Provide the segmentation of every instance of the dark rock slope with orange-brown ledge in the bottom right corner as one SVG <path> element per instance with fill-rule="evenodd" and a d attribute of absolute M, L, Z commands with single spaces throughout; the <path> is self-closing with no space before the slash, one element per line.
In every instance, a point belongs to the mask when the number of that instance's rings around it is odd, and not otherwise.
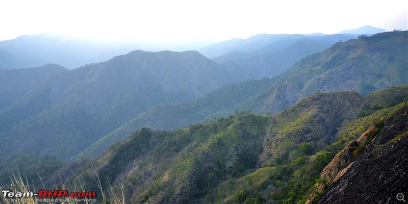
<path fill-rule="evenodd" d="M 378 120 L 367 138 L 360 140 L 363 144 L 350 149 L 352 165 L 314 203 L 397 202 L 395 195 L 408 187 L 407 178 L 401 176 L 406 172 L 401 161 L 408 159 L 408 103 L 401 105 Z"/>

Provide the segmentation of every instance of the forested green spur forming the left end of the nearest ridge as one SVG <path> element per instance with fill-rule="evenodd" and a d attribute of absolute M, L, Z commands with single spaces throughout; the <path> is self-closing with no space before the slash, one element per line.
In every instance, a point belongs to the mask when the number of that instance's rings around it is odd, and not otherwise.
<path fill-rule="evenodd" d="M 134 201 L 191 202 L 233 171 L 238 176 L 253 168 L 268 120 L 243 114 L 174 131 L 141 129 L 96 162 L 98 173 L 109 182 L 125 176 Z"/>

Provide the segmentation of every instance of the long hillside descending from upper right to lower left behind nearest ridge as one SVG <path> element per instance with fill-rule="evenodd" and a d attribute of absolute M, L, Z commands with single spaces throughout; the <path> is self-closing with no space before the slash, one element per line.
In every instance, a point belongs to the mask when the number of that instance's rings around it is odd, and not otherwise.
<path fill-rule="evenodd" d="M 106 135 L 82 156 L 100 155 L 110 144 L 144 126 L 174 129 L 240 110 L 273 114 L 317 92 L 355 90 L 367 95 L 407 84 L 407 52 L 406 31 L 337 43 L 272 79 L 227 85 L 187 103 L 155 107 Z"/>

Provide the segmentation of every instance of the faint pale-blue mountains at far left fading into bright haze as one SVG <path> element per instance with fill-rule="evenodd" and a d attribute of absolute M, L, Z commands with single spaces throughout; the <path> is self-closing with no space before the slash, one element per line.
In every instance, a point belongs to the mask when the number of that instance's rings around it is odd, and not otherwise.
<path fill-rule="evenodd" d="M 132 50 L 192 50 L 208 42 L 157 43 L 132 40 L 102 40 L 41 33 L 0 41 L 0 69 L 59 64 L 68 69 L 107 61 Z"/>

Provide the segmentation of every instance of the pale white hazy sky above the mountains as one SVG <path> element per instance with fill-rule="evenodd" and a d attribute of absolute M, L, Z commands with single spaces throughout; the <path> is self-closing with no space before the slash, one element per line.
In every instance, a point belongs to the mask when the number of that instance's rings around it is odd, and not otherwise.
<path fill-rule="evenodd" d="M 254 34 L 332 34 L 369 24 L 408 27 L 407 1 L 88 1 L 0 2 L 0 40 L 35 33 L 184 41 Z M 379 3 L 380 2 L 380 3 Z"/>

